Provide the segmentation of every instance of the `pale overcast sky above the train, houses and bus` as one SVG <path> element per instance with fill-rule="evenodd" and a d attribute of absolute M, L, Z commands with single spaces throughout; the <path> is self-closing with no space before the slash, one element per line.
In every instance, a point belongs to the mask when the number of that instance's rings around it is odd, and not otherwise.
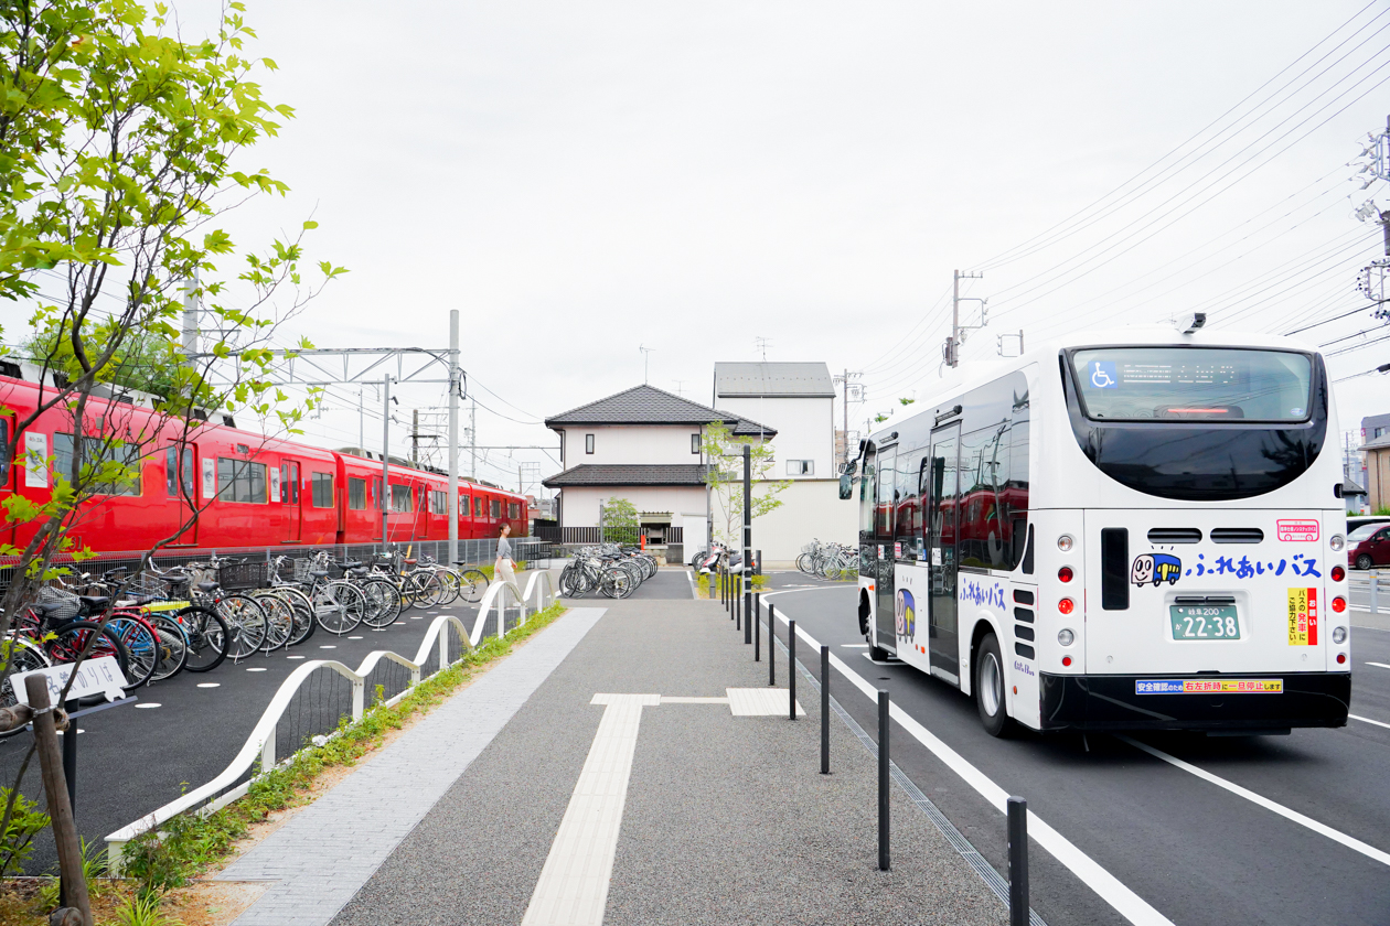
<path fill-rule="evenodd" d="M 214 4 L 175 6 L 186 35 L 210 28 Z M 1351 211 L 1384 183 L 1362 193 L 1344 165 L 1390 112 L 1384 0 L 247 7 L 249 50 L 279 64 L 265 93 L 297 118 L 243 162 L 293 193 L 235 236 L 313 212 L 314 255 L 352 272 L 303 333 L 442 347 L 457 308 L 480 401 L 520 422 L 641 383 L 639 346 L 652 385 L 708 403 L 713 362 L 758 358 L 762 336 L 770 361 L 865 371 L 862 426 L 930 392 L 954 268 L 984 267 L 967 292 L 991 300 L 969 362 L 1020 328 L 1194 307 L 1290 330 L 1364 307 L 1357 269 L 1380 251 Z M 990 260 L 1097 200 L 1115 208 Z M 1387 360 L 1390 342 L 1329 364 Z M 1390 380 L 1346 386 L 1344 428 L 1390 411 Z M 442 401 L 417 387 L 402 408 Z M 481 408 L 478 430 L 553 441 Z M 357 412 L 309 432 L 356 443 Z M 514 486 L 517 460 L 559 469 L 491 451 L 480 475 Z"/>

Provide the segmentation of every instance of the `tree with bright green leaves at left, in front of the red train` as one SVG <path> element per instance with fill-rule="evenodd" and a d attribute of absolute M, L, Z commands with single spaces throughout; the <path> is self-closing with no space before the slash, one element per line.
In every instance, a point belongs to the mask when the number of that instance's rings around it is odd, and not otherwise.
<path fill-rule="evenodd" d="M 50 469 L 47 501 L 4 503 L 8 526 L 29 539 L 0 546 L 22 566 L 0 601 L 0 636 L 7 615 L 65 571 L 56 557 L 88 555 L 67 540 L 79 512 L 138 478 L 150 455 L 211 426 L 199 421 L 206 411 L 279 433 L 304 412 L 270 379 L 271 337 L 343 271 L 320 262 L 306 282 L 311 221 L 260 249 L 238 247 L 220 228 L 228 210 L 288 189 L 240 167 L 246 149 L 293 115 L 263 99 L 253 78 L 275 65 L 245 51 L 254 32 L 242 12 L 228 3 L 217 35 L 185 42 L 164 4 L 0 0 L 0 297 L 32 308 L 29 347 L 44 383 L 35 412 L 0 412 L 11 447 L 49 412 L 65 415 L 74 435 L 64 458 L 24 461 Z M 217 329 L 188 355 L 185 280 L 202 280 L 192 294 Z M 163 394 L 153 422 L 117 401 L 133 387 Z M 188 518 L 154 550 L 197 518 L 186 501 Z"/>

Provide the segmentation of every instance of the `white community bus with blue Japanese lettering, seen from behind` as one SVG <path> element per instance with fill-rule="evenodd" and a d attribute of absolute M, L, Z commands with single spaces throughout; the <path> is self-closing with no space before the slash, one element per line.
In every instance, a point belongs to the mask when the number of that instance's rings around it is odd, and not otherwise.
<path fill-rule="evenodd" d="M 873 657 L 973 694 L 995 736 L 1346 725 L 1346 508 L 1316 351 L 1130 328 L 915 407 L 841 480 Z"/>

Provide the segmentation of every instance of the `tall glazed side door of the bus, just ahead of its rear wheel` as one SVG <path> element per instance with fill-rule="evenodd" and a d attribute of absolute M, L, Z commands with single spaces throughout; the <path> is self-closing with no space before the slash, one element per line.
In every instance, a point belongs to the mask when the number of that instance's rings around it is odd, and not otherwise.
<path fill-rule="evenodd" d="M 927 532 L 927 565 L 931 576 L 931 668 L 960 675 L 960 641 L 956 630 L 956 472 L 960 425 L 931 433 L 930 496 L 923 503 Z"/>

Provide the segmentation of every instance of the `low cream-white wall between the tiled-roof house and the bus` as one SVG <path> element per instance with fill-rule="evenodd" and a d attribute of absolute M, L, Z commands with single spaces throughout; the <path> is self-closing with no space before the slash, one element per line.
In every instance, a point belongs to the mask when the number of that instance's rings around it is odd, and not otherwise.
<path fill-rule="evenodd" d="M 756 485 L 753 494 L 758 496 Z M 849 546 L 859 543 L 859 505 L 841 501 L 838 479 L 799 479 L 777 497 L 783 503 L 780 507 L 753 518 L 753 548 L 763 551 L 764 566 L 794 566 L 801 548 L 813 537 Z M 723 505 L 716 500 L 716 536 L 723 532 L 724 523 Z M 741 543 L 739 525 L 734 528 L 735 546 Z"/>

